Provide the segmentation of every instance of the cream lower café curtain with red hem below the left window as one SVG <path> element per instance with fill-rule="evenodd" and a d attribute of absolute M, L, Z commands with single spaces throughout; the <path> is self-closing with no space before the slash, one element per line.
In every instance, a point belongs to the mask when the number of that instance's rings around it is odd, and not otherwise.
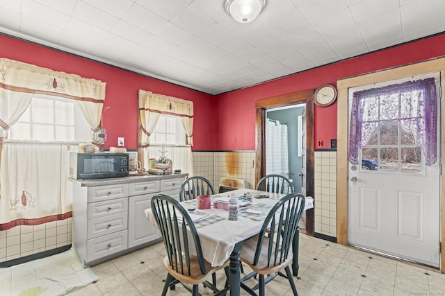
<path fill-rule="evenodd" d="M 70 151 L 77 146 L 34 141 L 3 143 L 0 224 L 72 211 L 72 183 L 67 182 L 67 177 Z"/>

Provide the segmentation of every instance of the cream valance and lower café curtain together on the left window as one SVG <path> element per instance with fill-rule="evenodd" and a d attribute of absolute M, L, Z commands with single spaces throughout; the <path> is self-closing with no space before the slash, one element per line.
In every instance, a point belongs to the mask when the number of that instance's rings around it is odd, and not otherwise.
<path fill-rule="evenodd" d="M 70 144 L 6 140 L 34 94 L 76 100 L 91 128 L 96 128 L 105 83 L 0 58 L 0 230 L 71 216 Z"/>

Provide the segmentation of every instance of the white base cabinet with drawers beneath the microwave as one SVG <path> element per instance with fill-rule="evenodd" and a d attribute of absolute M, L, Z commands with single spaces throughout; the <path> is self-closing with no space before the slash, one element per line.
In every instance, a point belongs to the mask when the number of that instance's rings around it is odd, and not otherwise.
<path fill-rule="evenodd" d="M 179 200 L 185 176 L 73 181 L 73 241 L 81 261 L 95 265 L 161 238 L 144 211 L 159 193 Z"/>

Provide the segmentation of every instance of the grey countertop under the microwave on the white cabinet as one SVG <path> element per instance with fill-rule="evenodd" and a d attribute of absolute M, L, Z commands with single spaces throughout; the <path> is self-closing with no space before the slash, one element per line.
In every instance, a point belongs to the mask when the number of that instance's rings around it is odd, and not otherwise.
<path fill-rule="evenodd" d="M 184 178 L 188 176 L 188 173 L 181 174 L 171 174 L 171 175 L 138 175 L 129 177 L 114 177 L 107 179 L 95 179 L 95 180 L 76 180 L 73 178 L 68 178 L 71 182 L 82 187 L 93 187 L 93 186 L 104 186 L 104 185 L 114 185 L 114 184 L 124 184 L 124 183 L 136 183 L 136 182 L 147 182 L 153 180 L 165 180 L 165 179 L 176 179 Z"/>

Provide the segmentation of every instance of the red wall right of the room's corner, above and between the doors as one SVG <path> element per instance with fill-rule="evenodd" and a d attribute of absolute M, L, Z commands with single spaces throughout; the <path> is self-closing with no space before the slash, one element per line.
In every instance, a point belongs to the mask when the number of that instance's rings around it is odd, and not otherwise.
<path fill-rule="evenodd" d="M 255 149 L 255 101 L 262 98 L 316 89 L 337 80 L 404 64 L 412 64 L 445 55 L 445 35 L 403 44 L 384 51 L 336 62 L 324 67 L 296 73 L 261 85 L 216 96 L 216 137 L 218 150 Z M 347 114 L 339 114 L 347 116 Z M 337 139 L 337 103 L 314 107 L 314 147 L 330 148 Z M 318 146 L 318 141 L 323 146 Z"/>

